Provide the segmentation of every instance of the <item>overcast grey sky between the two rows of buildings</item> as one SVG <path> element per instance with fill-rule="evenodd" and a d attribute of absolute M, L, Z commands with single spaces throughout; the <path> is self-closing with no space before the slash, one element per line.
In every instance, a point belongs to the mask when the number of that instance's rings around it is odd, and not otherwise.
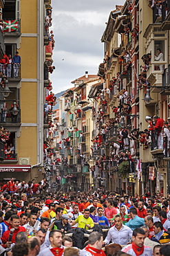
<path fill-rule="evenodd" d="M 125 0 L 52 0 L 52 30 L 55 71 L 53 92 L 72 87 L 71 81 L 88 71 L 96 75 L 103 62 L 104 44 L 100 39 L 111 10 Z"/>

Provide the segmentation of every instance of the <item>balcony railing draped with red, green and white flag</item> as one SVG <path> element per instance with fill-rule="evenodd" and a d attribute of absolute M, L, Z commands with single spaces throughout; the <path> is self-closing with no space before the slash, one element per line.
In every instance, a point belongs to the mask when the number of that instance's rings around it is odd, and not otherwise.
<path fill-rule="evenodd" d="M 21 35 L 21 20 L 20 19 L 5 19 L 3 23 L 6 24 L 6 28 L 3 30 L 4 35 Z"/>

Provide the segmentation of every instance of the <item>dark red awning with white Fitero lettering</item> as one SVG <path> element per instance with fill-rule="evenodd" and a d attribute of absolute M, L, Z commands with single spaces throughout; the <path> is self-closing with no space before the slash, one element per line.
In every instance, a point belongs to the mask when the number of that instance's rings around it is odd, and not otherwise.
<path fill-rule="evenodd" d="M 0 172 L 30 172 L 31 165 L 0 165 Z"/>

